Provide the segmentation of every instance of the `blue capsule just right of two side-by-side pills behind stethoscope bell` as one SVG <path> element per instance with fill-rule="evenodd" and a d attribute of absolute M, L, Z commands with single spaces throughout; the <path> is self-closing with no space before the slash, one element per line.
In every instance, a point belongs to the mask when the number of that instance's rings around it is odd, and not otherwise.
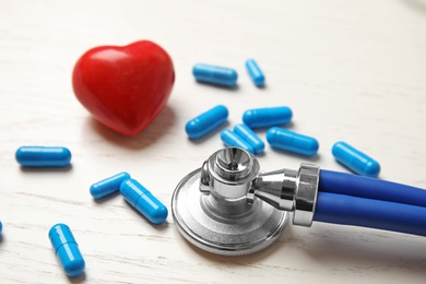
<path fill-rule="evenodd" d="M 313 156 L 319 149 L 319 143 L 315 138 L 279 127 L 273 127 L 267 131 L 267 140 L 272 147 L 305 156 Z"/>

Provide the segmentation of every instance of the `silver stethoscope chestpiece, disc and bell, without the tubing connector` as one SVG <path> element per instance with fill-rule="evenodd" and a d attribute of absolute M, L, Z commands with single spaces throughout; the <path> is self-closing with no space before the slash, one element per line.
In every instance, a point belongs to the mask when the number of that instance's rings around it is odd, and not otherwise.
<path fill-rule="evenodd" d="M 259 163 L 248 152 L 227 147 L 187 175 L 171 199 L 180 234 L 192 245 L 217 255 L 240 256 L 273 244 L 288 212 L 250 197 Z"/>

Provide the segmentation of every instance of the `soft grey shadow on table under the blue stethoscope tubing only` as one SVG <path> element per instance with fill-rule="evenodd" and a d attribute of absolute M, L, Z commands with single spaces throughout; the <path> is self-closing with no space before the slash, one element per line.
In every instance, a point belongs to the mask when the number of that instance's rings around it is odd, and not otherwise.
<path fill-rule="evenodd" d="M 409 269 L 425 273 L 425 238 L 369 228 L 334 229 L 321 225 L 310 230 L 305 245 L 308 256 L 329 267 L 375 268 L 376 270 Z M 338 225 L 339 226 L 339 225 Z M 330 228 L 328 228 L 330 227 Z"/>

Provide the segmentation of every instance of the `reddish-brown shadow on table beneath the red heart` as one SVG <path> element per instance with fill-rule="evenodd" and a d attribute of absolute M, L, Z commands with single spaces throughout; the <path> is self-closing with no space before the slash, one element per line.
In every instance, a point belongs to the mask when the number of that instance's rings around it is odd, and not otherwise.
<path fill-rule="evenodd" d="M 164 133 L 175 126 L 176 120 L 175 111 L 166 105 L 151 125 L 135 137 L 127 137 L 118 133 L 107 128 L 92 116 L 87 119 L 88 129 L 85 129 L 84 131 L 95 131 L 98 135 L 113 144 L 140 150 L 157 142 Z"/>

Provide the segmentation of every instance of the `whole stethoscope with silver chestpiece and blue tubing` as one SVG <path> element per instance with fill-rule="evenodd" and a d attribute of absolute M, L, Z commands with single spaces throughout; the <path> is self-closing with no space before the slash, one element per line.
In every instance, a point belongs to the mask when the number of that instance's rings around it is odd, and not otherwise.
<path fill-rule="evenodd" d="M 426 190 L 324 170 L 260 171 L 258 159 L 238 147 L 215 152 L 187 175 L 171 199 L 180 234 L 218 255 L 239 256 L 273 244 L 286 226 L 313 221 L 426 236 Z"/>

